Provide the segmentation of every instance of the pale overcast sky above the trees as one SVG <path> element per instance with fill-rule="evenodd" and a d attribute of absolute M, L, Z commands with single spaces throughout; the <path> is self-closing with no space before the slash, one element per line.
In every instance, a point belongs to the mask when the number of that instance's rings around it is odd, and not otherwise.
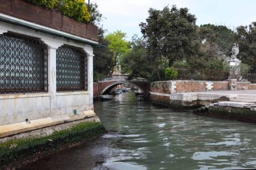
<path fill-rule="evenodd" d="M 86 0 L 87 1 L 87 0 Z M 256 22 L 256 0 L 91 0 L 97 3 L 104 17 L 102 22 L 108 33 L 121 30 L 127 40 L 134 34 L 141 36 L 139 23 L 146 22 L 148 9 L 163 9 L 166 5 L 187 7 L 197 17 L 197 25 L 224 25 L 235 30 Z"/>

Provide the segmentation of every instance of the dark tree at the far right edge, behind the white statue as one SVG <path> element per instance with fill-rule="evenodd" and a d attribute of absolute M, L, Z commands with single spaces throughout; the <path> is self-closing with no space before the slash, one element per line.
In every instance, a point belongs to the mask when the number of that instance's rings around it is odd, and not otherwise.
<path fill-rule="evenodd" d="M 237 30 L 237 42 L 241 60 L 243 63 L 250 65 L 253 72 L 256 72 L 256 22 L 249 26 L 239 26 Z"/>

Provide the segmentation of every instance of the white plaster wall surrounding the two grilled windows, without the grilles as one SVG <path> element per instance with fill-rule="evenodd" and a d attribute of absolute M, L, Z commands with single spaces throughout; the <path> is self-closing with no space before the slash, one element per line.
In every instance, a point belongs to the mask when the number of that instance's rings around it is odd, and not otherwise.
<path fill-rule="evenodd" d="M 0 95 L 0 126 L 53 116 L 68 116 L 93 110 L 93 48 L 84 42 L 38 32 L 7 22 L 0 22 L 0 34 L 15 32 L 40 38 L 48 46 L 48 93 Z M 88 91 L 56 91 L 56 50 L 63 44 L 84 49 L 88 58 Z"/>

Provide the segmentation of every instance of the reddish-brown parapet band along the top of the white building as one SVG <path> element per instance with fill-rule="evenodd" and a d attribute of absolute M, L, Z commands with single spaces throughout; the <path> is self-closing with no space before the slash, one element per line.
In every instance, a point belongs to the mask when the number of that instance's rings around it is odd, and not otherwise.
<path fill-rule="evenodd" d="M 96 26 L 77 22 L 61 15 L 59 11 L 45 9 L 24 0 L 1 0 L 0 12 L 98 42 Z"/>

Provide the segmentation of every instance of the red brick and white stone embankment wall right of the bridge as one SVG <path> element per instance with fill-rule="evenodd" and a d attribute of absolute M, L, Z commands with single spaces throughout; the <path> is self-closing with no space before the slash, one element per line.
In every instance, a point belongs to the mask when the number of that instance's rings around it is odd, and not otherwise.
<path fill-rule="evenodd" d="M 221 101 L 221 94 L 205 96 L 200 91 L 226 91 L 256 89 L 256 84 L 236 81 L 156 81 L 151 83 L 150 96 L 153 103 L 183 110 L 211 101 Z M 190 93 L 188 93 L 190 92 Z M 232 95 L 227 96 L 232 97 Z"/>

